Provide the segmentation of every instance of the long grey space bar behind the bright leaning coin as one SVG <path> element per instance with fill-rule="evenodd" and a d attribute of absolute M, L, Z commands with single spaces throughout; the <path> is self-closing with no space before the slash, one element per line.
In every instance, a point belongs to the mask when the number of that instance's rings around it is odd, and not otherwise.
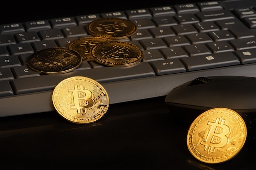
<path fill-rule="evenodd" d="M 17 78 L 11 83 L 15 94 L 25 94 L 53 90 L 59 82 L 72 76 L 85 76 L 99 83 L 107 83 L 155 76 L 155 72 L 149 63 L 137 63 L 130 67 L 103 67 L 88 70 L 74 70 L 64 74 Z"/>

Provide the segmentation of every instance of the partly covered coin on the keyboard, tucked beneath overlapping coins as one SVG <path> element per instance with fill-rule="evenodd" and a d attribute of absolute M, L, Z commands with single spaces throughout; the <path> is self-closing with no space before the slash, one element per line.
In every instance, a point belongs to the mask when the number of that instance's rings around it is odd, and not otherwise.
<path fill-rule="evenodd" d="M 68 44 L 67 48 L 78 52 L 84 61 L 92 61 L 93 59 L 90 54 L 90 49 L 93 46 L 105 41 L 112 40 L 103 37 L 82 37 L 72 41 L 70 44 Z"/>

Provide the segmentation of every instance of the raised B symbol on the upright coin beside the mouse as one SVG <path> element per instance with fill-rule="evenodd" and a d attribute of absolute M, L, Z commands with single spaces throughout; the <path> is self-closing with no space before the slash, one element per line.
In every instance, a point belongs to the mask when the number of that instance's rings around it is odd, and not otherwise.
<path fill-rule="evenodd" d="M 220 118 L 217 118 L 215 122 L 208 122 L 211 129 L 206 140 L 201 142 L 202 145 L 205 145 L 205 151 L 214 152 L 215 148 L 222 148 L 228 143 L 229 126 L 225 122 L 225 119 Z"/>

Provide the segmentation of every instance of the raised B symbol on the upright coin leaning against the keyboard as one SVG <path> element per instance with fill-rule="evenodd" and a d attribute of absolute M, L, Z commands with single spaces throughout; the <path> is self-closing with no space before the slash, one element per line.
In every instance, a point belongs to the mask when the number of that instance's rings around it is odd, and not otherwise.
<path fill-rule="evenodd" d="M 71 106 L 71 109 L 76 109 L 77 113 L 86 113 L 86 109 L 94 105 L 92 92 L 84 89 L 83 85 L 74 85 L 74 89 L 68 89 L 68 91 L 73 94 L 74 106 Z"/>

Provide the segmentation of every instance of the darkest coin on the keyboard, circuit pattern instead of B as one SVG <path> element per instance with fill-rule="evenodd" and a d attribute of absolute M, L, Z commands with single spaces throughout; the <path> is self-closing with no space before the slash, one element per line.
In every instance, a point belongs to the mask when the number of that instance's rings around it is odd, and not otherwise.
<path fill-rule="evenodd" d="M 78 68 L 81 63 L 81 55 L 74 50 L 47 48 L 31 54 L 27 65 L 42 74 L 62 74 Z"/>

